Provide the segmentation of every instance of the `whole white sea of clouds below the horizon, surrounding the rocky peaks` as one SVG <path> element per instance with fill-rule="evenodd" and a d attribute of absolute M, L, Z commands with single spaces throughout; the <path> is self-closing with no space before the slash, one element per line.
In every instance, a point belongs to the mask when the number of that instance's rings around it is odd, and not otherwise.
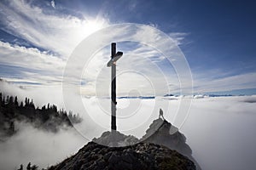
<path fill-rule="evenodd" d="M 55 90 L 51 93 L 46 88 L 40 89 L 41 92 L 45 90 L 43 96 L 35 89 L 11 88 L 3 83 L 1 85 L 1 90 L 6 94 L 16 94 L 20 99 L 29 96 L 38 106 L 50 102 L 64 107 L 61 90 L 53 89 Z M 192 99 L 192 104 L 189 116 L 179 130 L 186 136 L 193 156 L 202 169 L 255 169 L 255 95 L 118 99 L 118 129 L 121 133 L 142 137 L 149 124 L 158 118 L 159 108 L 164 108 L 166 103 L 170 104 L 170 109 L 164 109 L 164 116 L 173 124 L 173 113 L 177 112 L 183 98 Z M 47 133 L 29 124 L 17 124 L 18 133 L 0 143 L 1 169 L 15 169 L 20 167 L 21 163 L 27 164 L 29 161 L 41 168 L 54 165 L 76 153 L 93 137 L 99 137 L 102 132 L 107 131 L 110 124 L 109 99 L 90 97 L 82 100 L 84 105 L 81 108 L 73 104 L 73 112 L 79 112 L 80 116 L 84 117 L 84 121 L 75 128 L 61 130 L 59 133 Z M 72 103 L 72 99 L 70 102 Z M 83 111 L 89 116 L 84 116 Z M 94 125 L 94 129 L 86 129 Z"/>

